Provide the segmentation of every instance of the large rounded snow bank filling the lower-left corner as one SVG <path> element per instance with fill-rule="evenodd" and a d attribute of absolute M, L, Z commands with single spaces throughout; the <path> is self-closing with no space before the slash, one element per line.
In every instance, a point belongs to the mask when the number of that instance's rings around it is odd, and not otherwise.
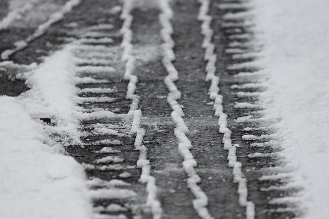
<path fill-rule="evenodd" d="M 0 218 L 89 219 L 83 168 L 46 133 L 15 98 L 0 97 Z"/>

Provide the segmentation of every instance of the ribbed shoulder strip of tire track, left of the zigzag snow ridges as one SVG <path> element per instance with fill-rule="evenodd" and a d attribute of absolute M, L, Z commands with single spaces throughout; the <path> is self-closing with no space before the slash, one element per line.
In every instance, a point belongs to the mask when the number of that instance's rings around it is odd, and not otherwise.
<path fill-rule="evenodd" d="M 95 25 L 92 31 L 99 35 L 116 31 L 108 27 Z M 81 118 L 81 146 L 68 147 L 67 151 L 86 168 L 94 218 L 132 218 L 142 214 L 143 199 L 136 197 L 145 196 L 144 186 L 136 184 L 140 175 L 136 168 L 139 153 L 134 151 L 136 136 L 131 126 L 137 124 L 134 113 L 128 114 L 128 83 L 117 72 L 124 63 L 108 59 L 108 55 L 120 55 L 120 46 L 103 41 L 94 45 L 97 39 L 100 38 L 82 38 L 74 45 L 77 74 L 82 82 L 78 85 L 80 106 L 86 112 Z"/>

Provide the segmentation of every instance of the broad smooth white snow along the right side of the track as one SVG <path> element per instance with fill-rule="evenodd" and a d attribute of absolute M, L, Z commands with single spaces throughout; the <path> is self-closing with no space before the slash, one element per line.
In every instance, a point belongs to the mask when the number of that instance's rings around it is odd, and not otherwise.
<path fill-rule="evenodd" d="M 304 189 L 298 197 L 303 217 L 329 215 L 329 1 L 253 0 L 261 61 L 268 73 L 262 95 L 267 115 L 280 118 L 278 134 L 293 173 Z"/>

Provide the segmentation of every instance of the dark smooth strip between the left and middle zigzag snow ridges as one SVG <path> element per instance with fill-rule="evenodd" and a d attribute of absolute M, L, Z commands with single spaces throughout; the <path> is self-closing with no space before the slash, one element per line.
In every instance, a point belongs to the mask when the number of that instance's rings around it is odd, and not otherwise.
<path fill-rule="evenodd" d="M 134 72 L 139 78 L 136 92 L 141 97 L 144 144 L 148 148 L 151 174 L 157 179 L 164 219 L 197 219 L 191 202 L 193 195 L 186 186 L 186 174 L 181 168 L 174 125 L 170 119 L 171 109 L 166 103 L 159 5 L 157 1 L 142 2 L 132 11 L 135 17 L 132 25 L 136 57 Z"/>

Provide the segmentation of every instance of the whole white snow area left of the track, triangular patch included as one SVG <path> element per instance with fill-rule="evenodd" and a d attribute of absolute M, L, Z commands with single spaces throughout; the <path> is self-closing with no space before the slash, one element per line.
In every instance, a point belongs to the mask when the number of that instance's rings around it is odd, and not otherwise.
<path fill-rule="evenodd" d="M 56 52 L 26 74 L 31 90 L 0 97 L 0 218 L 91 218 L 83 167 L 49 140 L 50 133 L 63 144 L 79 139 L 70 53 Z"/>

